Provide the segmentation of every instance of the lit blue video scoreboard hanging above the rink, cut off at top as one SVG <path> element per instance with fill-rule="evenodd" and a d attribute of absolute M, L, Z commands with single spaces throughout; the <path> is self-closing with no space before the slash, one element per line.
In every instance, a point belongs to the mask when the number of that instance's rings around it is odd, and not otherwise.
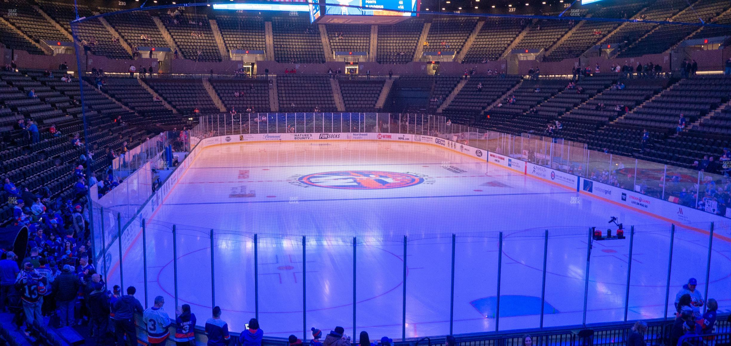
<path fill-rule="evenodd" d="M 313 22 L 390 24 L 398 23 L 401 20 L 417 15 L 416 12 L 419 10 L 420 1 L 311 0 L 309 5 L 310 19 Z"/>

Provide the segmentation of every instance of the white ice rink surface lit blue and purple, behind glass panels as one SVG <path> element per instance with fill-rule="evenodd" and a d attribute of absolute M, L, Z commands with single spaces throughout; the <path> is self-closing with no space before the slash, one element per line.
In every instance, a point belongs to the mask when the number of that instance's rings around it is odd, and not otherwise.
<path fill-rule="evenodd" d="M 265 335 L 301 337 L 303 328 L 327 333 L 335 326 L 352 335 L 354 281 L 356 332 L 401 338 L 405 285 L 406 336 L 449 334 L 455 234 L 453 332 L 493 331 L 502 231 L 499 328 L 535 328 L 549 230 L 544 324 L 580 324 L 588 230 L 606 230 L 618 217 L 628 238 L 593 242 L 586 322 L 624 319 L 629 225 L 635 242 L 628 319 L 664 315 L 670 224 L 651 215 L 427 144 L 302 141 L 202 150 L 148 221 L 149 299 L 164 296 L 171 314 L 174 223 L 179 304 L 191 304 L 201 324 L 211 313 L 215 229 L 215 301 L 233 331 L 256 309 L 257 234 Z M 138 291 L 141 242 L 137 236 L 124 257 L 125 285 Z M 701 293 L 706 289 L 707 249 L 707 234 L 676 227 L 670 313 L 689 277 Z M 730 250 L 714 239 L 708 296 L 722 310 L 731 296 Z"/>

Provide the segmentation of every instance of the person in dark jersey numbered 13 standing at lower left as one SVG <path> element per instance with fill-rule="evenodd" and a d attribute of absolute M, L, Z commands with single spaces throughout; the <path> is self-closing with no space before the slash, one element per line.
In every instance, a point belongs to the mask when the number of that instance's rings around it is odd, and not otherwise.
<path fill-rule="evenodd" d="M 26 323 L 30 327 L 33 326 L 34 321 L 37 321 L 43 326 L 41 305 L 43 304 L 43 296 L 46 293 L 48 281 L 41 274 L 38 274 L 34 269 L 33 263 L 26 262 L 23 268 L 23 273 L 20 274 L 18 281 L 15 282 L 15 289 L 20 292 L 20 298 L 23 300 L 23 312 L 26 315 Z M 29 334 L 27 329 L 26 334 Z"/>

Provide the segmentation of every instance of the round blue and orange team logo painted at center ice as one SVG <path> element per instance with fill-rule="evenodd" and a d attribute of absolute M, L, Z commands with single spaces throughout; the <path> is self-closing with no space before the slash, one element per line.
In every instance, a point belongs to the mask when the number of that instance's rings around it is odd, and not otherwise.
<path fill-rule="evenodd" d="M 408 173 L 383 170 L 336 170 L 301 176 L 298 181 L 314 187 L 330 189 L 395 189 L 412 187 L 424 182 L 424 178 Z"/>

